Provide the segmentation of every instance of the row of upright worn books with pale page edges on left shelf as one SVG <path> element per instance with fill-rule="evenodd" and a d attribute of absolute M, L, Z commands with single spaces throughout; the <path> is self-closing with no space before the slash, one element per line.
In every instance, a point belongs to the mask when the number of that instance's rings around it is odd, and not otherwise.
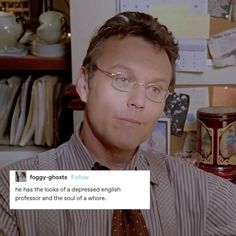
<path fill-rule="evenodd" d="M 58 145 L 62 94 L 58 76 L 1 79 L 0 144 Z"/>

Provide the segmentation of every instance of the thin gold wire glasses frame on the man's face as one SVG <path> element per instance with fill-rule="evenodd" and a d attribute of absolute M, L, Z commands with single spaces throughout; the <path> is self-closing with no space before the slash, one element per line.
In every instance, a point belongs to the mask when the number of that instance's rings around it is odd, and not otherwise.
<path fill-rule="evenodd" d="M 127 90 L 127 91 L 126 91 L 126 90 L 119 89 L 119 88 L 117 88 L 117 87 L 114 85 L 115 76 L 117 76 L 117 75 L 119 75 L 119 74 L 122 74 L 121 72 L 116 72 L 116 73 L 109 72 L 109 71 L 106 71 L 106 70 L 101 69 L 101 68 L 98 67 L 96 64 L 94 64 L 92 67 L 93 67 L 93 70 L 98 70 L 98 71 L 102 72 L 103 74 L 105 74 L 106 76 L 108 76 L 109 78 L 111 78 L 111 79 L 112 79 L 112 85 L 113 85 L 113 87 L 114 87 L 116 90 L 121 91 L 121 92 L 130 92 L 130 91 L 131 91 L 131 90 Z M 153 99 L 151 99 L 150 97 L 148 97 L 148 96 L 147 96 L 147 93 L 146 93 L 146 88 L 147 88 L 148 86 L 151 86 L 151 85 L 153 85 L 153 84 L 151 84 L 151 83 L 150 83 L 150 84 L 145 84 L 145 83 L 143 83 L 143 82 L 138 82 L 138 81 L 135 80 L 135 85 L 134 85 L 133 89 L 137 88 L 137 86 L 144 86 L 144 87 L 145 87 L 145 96 L 146 96 L 146 98 L 148 98 L 150 101 L 155 102 L 155 103 L 162 103 L 162 102 L 165 102 L 166 99 L 167 99 L 167 97 L 172 94 L 172 93 L 169 91 L 169 89 L 167 89 L 167 90 L 165 90 L 166 95 L 163 97 L 163 100 L 160 100 L 160 101 L 153 100 Z"/>

